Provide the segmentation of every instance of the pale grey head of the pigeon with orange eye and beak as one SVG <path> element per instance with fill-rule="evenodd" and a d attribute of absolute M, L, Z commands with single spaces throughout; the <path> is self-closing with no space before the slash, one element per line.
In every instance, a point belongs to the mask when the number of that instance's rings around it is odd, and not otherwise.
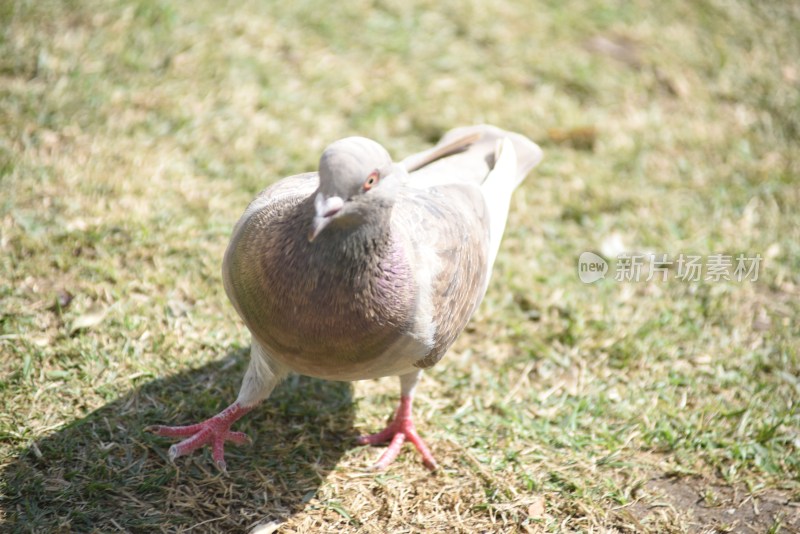
<path fill-rule="evenodd" d="M 319 189 L 308 240 L 328 226 L 369 224 L 392 204 L 392 189 L 403 167 L 381 145 L 365 137 L 346 137 L 328 146 L 319 160 Z"/>

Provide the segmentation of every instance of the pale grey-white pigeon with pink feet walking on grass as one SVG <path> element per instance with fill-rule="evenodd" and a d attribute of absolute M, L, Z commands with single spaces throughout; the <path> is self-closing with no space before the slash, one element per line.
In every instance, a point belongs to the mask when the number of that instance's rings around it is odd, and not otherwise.
<path fill-rule="evenodd" d="M 400 378 L 400 404 L 362 445 L 389 445 L 385 469 L 410 441 L 436 460 L 412 418 L 414 390 L 464 329 L 486 292 L 511 194 L 541 160 L 527 137 L 479 125 L 456 128 L 429 150 L 394 162 L 364 137 L 329 145 L 318 172 L 260 193 L 233 229 L 225 291 L 251 333 L 236 401 L 189 426 L 148 427 L 183 438 L 175 460 L 249 438 L 231 426 L 289 372 L 328 380 Z"/>

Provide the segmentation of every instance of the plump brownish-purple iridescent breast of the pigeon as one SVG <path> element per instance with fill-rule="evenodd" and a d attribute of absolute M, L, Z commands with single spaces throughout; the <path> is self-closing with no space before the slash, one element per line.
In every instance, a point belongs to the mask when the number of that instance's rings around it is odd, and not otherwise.
<path fill-rule="evenodd" d="M 312 214 L 310 197 L 286 195 L 237 228 L 226 257 L 231 300 L 270 355 L 293 370 L 381 376 L 399 364 L 376 360 L 402 345 L 414 323 L 417 291 L 404 243 L 358 229 L 309 242 Z M 388 230 L 390 216 L 364 231 Z"/>

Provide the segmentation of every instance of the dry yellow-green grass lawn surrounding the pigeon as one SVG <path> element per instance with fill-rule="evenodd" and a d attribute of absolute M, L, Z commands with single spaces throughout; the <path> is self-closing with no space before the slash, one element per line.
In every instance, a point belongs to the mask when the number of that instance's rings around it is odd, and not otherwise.
<path fill-rule="evenodd" d="M 3 530 L 800 529 L 797 6 L 283 4 L 0 4 Z M 254 194 L 346 135 L 399 158 L 477 122 L 545 160 L 419 388 L 440 472 L 363 469 L 393 378 L 290 379 L 228 477 L 170 465 L 142 429 L 243 373 L 220 264 Z M 763 263 L 585 285 L 585 250 Z"/>

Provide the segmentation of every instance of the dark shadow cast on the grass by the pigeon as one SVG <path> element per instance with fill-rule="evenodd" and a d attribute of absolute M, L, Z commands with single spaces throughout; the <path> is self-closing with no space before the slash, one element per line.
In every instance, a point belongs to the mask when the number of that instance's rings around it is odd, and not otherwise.
<path fill-rule="evenodd" d="M 186 424 L 235 398 L 246 349 L 152 380 L 32 443 L 0 471 L 12 532 L 241 532 L 281 521 L 310 501 L 353 447 L 349 383 L 291 376 L 236 429 L 228 474 L 208 451 L 171 464 L 170 440 L 144 428 Z"/>

